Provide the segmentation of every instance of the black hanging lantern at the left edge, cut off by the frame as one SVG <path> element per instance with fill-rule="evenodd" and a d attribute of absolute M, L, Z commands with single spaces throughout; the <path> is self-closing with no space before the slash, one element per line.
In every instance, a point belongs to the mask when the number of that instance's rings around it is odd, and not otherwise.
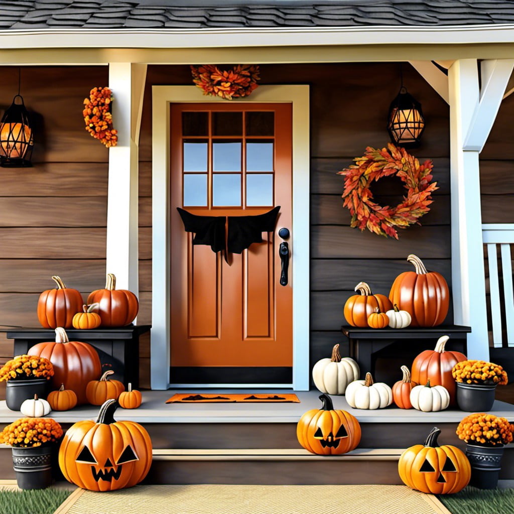
<path fill-rule="evenodd" d="M 18 94 L 0 121 L 0 166 L 23 168 L 32 166 L 34 136 L 23 97 Z"/>

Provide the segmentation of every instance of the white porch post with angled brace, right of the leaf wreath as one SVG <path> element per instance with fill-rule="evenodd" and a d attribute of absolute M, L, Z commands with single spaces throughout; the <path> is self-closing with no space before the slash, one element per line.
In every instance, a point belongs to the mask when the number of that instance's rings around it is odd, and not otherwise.
<path fill-rule="evenodd" d="M 471 326 L 470 359 L 489 359 L 479 153 L 511 71 L 511 60 L 484 61 L 481 90 L 475 59 L 455 61 L 448 70 L 453 310 L 456 324 Z"/>

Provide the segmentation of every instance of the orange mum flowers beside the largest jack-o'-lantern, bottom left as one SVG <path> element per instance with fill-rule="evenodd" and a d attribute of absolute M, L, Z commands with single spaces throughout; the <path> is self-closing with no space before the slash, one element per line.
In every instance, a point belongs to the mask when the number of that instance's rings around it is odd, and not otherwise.
<path fill-rule="evenodd" d="M 0 443 L 20 448 L 54 443 L 63 435 L 61 425 L 52 418 L 20 418 L 0 432 Z"/>

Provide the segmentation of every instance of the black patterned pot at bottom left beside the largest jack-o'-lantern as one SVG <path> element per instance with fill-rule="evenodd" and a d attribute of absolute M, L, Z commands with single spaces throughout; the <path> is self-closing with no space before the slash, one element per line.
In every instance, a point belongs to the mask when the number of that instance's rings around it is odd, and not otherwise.
<path fill-rule="evenodd" d="M 52 485 L 52 448 L 12 448 L 12 462 L 20 489 L 45 489 Z"/>

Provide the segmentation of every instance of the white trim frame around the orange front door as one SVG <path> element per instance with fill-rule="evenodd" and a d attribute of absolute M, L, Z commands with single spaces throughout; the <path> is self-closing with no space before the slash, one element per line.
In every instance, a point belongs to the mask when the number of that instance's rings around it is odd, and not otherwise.
<path fill-rule="evenodd" d="M 196 86 L 152 87 L 152 389 L 168 389 L 170 370 L 170 103 L 292 104 L 293 380 L 309 389 L 309 86 L 260 86 L 244 100 L 205 97 Z M 241 387 L 246 387 L 246 384 Z M 263 384 L 262 387 L 266 387 Z M 282 384 L 284 387 L 284 384 Z"/>

